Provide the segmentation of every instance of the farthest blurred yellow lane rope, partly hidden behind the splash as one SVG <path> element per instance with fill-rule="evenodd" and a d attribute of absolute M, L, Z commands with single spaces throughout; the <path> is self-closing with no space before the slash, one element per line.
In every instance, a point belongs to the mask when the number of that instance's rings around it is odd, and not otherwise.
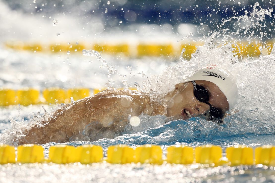
<path fill-rule="evenodd" d="M 236 41 L 232 44 L 232 52 L 238 56 L 238 58 L 246 57 L 259 57 L 260 54 L 268 55 L 273 48 L 274 41 L 267 41 L 265 44 L 260 41 Z M 83 43 L 55 43 L 49 45 L 43 45 L 40 43 L 23 43 L 17 42 L 6 42 L 7 48 L 15 50 L 25 50 L 31 52 L 45 52 L 45 53 L 63 53 L 67 52 L 70 54 L 81 54 L 83 49 L 93 49 L 98 52 L 103 52 L 112 55 L 125 55 L 130 57 L 143 57 L 143 56 L 179 56 L 182 49 L 185 48 L 183 58 L 190 59 L 198 46 L 202 46 L 203 42 L 190 42 L 190 43 L 179 43 L 177 45 L 171 43 L 139 43 L 136 45 L 130 45 L 126 43 L 111 44 L 111 43 L 100 43 L 94 45 L 86 45 Z"/>

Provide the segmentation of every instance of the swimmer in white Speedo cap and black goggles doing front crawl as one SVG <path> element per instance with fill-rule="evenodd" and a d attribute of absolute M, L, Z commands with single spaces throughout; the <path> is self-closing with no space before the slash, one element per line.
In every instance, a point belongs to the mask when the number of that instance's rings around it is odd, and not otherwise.
<path fill-rule="evenodd" d="M 150 98 L 139 91 L 105 90 L 66 104 L 42 124 L 29 124 L 23 137 L 15 143 L 77 140 L 72 137 L 90 141 L 114 138 L 124 131 L 130 117 L 142 113 L 184 120 L 201 117 L 220 123 L 226 111 L 235 105 L 237 95 L 233 76 L 217 66 L 208 66 L 176 84 L 175 89 L 164 96 Z"/>

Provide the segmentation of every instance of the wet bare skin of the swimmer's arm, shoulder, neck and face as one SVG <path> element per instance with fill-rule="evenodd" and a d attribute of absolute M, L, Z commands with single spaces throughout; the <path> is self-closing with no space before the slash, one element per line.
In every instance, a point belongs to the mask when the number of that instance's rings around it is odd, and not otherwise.
<path fill-rule="evenodd" d="M 229 109 L 226 97 L 218 86 L 202 80 L 196 83 L 208 90 L 208 102 L 211 105 L 221 109 L 223 113 Z M 42 121 L 43 125 L 30 124 L 23 132 L 24 137 L 15 139 L 14 143 L 63 143 L 81 139 L 94 141 L 114 138 L 115 134 L 124 131 L 129 116 L 139 116 L 141 113 L 174 116 L 174 119 L 196 116 L 207 119 L 210 107 L 199 102 L 193 90 L 191 82 L 178 83 L 173 91 L 155 100 L 138 91 L 102 91 L 56 110 L 51 117 Z M 84 129 L 86 131 L 83 135 Z"/>

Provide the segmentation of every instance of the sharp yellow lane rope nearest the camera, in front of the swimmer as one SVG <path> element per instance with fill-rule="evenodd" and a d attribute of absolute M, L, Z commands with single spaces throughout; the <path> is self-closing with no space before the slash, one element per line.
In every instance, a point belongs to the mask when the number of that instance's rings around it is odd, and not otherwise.
<path fill-rule="evenodd" d="M 7 163 L 56 163 L 67 164 L 80 162 L 91 164 L 107 162 L 111 164 L 201 164 L 210 166 L 257 165 L 275 166 L 275 146 L 265 145 L 252 147 L 235 145 L 226 148 L 226 156 L 222 156 L 222 148 L 215 145 L 204 145 L 196 148 L 176 145 L 163 150 L 157 145 L 142 145 L 132 148 L 127 145 L 110 146 L 107 157 L 103 156 L 103 148 L 97 145 L 55 145 L 49 149 L 49 157 L 45 158 L 44 149 L 40 145 L 28 144 L 17 148 L 0 145 L 0 164 Z M 17 157 L 17 159 L 16 159 Z M 208 167 L 208 166 L 207 166 Z"/>

